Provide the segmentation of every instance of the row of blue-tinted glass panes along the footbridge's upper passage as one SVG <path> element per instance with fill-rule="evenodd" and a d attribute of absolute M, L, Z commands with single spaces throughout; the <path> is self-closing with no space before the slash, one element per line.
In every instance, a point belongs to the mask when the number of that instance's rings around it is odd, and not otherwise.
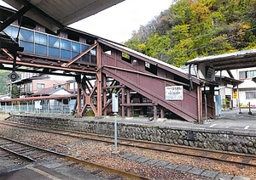
<path fill-rule="evenodd" d="M 15 25 L 9 25 L 4 31 L 10 37 L 16 38 L 19 28 Z M 73 59 L 79 53 L 84 52 L 90 47 L 88 44 L 71 41 L 65 38 L 52 36 L 39 31 L 32 31 L 26 28 L 20 29 L 19 34 L 20 47 L 24 48 L 25 53 L 37 54 L 60 59 Z M 90 50 L 78 61 L 86 64 L 96 65 L 96 48 Z"/>

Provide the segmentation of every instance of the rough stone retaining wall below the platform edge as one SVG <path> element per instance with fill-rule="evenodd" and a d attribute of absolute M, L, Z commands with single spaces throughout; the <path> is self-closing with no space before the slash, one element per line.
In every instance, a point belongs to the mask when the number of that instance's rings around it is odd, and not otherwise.
<path fill-rule="evenodd" d="M 41 127 L 113 136 L 113 122 L 96 121 L 95 119 L 84 121 L 83 119 L 70 120 L 31 115 L 12 115 L 6 120 Z M 256 155 L 256 132 L 118 123 L 118 137 Z"/>

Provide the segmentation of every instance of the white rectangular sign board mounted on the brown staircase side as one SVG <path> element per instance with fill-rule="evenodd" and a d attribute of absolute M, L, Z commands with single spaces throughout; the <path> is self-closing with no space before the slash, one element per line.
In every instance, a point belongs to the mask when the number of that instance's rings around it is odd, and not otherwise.
<path fill-rule="evenodd" d="M 183 100 L 183 86 L 166 87 L 166 100 Z"/>

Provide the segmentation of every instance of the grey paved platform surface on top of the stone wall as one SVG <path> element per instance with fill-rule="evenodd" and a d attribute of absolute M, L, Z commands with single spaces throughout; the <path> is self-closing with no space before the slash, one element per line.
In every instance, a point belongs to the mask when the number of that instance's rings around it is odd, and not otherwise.
<path fill-rule="evenodd" d="M 241 113 L 240 113 L 241 112 Z M 203 124 L 192 123 L 189 121 L 169 120 L 160 118 L 157 121 L 150 121 L 148 118 L 120 118 L 117 117 L 119 123 L 140 124 L 160 127 L 188 127 L 188 128 L 207 128 L 221 129 L 243 132 L 254 132 L 256 130 L 256 109 L 251 110 L 249 115 L 248 109 L 233 109 L 222 111 L 221 115 L 216 119 L 205 120 Z M 84 117 L 86 119 L 86 117 Z M 99 121 L 102 121 L 99 120 Z M 103 121 L 113 121 L 113 117 L 105 117 Z"/>

